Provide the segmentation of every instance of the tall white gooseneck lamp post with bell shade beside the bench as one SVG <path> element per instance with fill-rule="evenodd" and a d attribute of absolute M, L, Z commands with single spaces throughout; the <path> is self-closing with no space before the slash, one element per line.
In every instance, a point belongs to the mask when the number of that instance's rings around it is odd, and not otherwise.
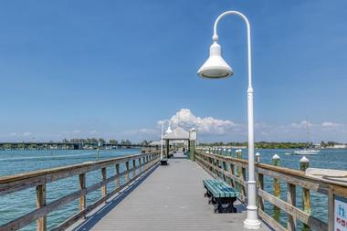
<path fill-rule="evenodd" d="M 214 43 L 210 47 L 210 56 L 204 65 L 197 71 L 200 77 L 206 79 L 221 79 L 233 75 L 233 69 L 222 58 L 221 47 L 218 45 L 218 36 L 216 27 L 223 16 L 240 16 L 247 26 L 247 53 L 248 53 L 248 89 L 247 89 L 247 110 L 248 110 L 248 205 L 247 219 L 244 226 L 248 229 L 258 229 L 260 221 L 258 220 L 258 207 L 256 205 L 256 180 L 254 167 L 254 116 L 253 116 L 253 88 L 252 88 L 252 61 L 251 61 L 251 43 L 250 43 L 250 25 L 248 19 L 237 11 L 226 11 L 216 18 L 214 26 Z"/>

